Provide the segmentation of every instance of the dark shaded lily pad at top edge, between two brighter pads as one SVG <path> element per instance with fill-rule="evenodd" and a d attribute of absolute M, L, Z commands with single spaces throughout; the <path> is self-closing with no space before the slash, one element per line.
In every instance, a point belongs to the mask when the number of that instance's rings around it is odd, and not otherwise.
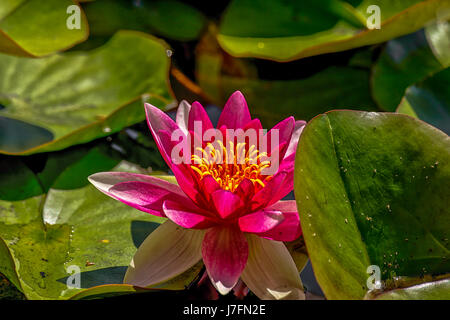
<path fill-rule="evenodd" d="M 92 36 L 110 36 L 120 29 L 139 30 L 178 41 L 198 38 L 205 16 L 180 1 L 97 0 L 85 6 Z"/>

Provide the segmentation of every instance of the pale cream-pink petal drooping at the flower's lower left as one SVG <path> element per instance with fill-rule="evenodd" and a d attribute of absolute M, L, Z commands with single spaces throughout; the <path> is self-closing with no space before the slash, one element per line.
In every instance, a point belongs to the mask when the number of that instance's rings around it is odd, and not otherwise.
<path fill-rule="evenodd" d="M 124 283 L 148 287 L 167 281 L 201 259 L 202 230 L 183 229 L 166 221 L 141 244 L 125 274 Z"/>

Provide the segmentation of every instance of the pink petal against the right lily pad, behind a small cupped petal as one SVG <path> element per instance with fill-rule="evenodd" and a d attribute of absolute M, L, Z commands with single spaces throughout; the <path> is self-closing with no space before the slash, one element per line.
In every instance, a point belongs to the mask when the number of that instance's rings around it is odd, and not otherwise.
<path fill-rule="evenodd" d="M 260 237 L 277 241 L 294 241 L 302 234 L 300 218 L 295 200 L 279 201 L 267 208 L 282 212 L 284 217 L 281 223 L 266 232 L 258 233 Z"/>

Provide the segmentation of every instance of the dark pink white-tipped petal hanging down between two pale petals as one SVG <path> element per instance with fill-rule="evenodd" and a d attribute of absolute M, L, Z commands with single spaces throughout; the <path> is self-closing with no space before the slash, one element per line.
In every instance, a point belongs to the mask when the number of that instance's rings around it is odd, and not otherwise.
<path fill-rule="evenodd" d="M 214 227 L 205 234 L 202 255 L 212 284 L 219 293 L 227 294 L 247 262 L 247 240 L 236 227 Z"/>

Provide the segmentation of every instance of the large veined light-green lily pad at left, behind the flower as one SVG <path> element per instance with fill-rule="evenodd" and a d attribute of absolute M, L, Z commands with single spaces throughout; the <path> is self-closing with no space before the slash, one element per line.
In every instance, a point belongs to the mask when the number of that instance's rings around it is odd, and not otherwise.
<path fill-rule="evenodd" d="M 0 153 L 60 150 L 145 119 L 143 101 L 172 99 L 166 45 L 121 31 L 90 52 L 0 55 Z"/>

